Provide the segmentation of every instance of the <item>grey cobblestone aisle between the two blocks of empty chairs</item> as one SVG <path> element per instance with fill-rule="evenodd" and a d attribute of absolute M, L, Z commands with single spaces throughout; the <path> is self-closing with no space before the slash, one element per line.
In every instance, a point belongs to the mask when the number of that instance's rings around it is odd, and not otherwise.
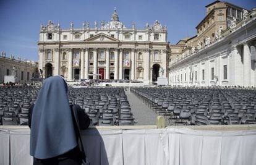
<path fill-rule="evenodd" d="M 156 117 L 158 116 L 150 109 L 142 99 L 139 99 L 134 93 L 126 91 L 126 96 L 134 114 L 134 125 L 156 125 Z"/>

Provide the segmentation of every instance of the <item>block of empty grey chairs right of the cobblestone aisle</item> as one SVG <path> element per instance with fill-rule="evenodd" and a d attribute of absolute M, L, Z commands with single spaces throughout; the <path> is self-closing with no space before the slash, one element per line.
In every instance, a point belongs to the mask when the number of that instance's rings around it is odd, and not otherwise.
<path fill-rule="evenodd" d="M 256 123 L 255 90 L 132 88 L 131 91 L 170 125 Z"/>

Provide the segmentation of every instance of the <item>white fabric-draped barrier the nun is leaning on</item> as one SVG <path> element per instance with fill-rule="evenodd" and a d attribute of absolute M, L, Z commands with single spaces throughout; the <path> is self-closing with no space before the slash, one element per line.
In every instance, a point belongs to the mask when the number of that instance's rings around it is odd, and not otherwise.
<path fill-rule="evenodd" d="M 102 128 L 82 131 L 92 165 L 256 164 L 255 126 L 232 131 Z M 33 164 L 29 140 L 28 127 L 0 127 L 0 164 Z"/>

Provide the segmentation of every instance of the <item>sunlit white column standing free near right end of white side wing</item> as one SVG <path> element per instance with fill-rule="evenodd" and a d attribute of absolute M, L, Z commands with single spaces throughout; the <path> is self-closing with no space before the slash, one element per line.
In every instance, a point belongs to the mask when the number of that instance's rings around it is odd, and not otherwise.
<path fill-rule="evenodd" d="M 244 87 L 250 86 L 250 49 L 248 43 L 244 43 Z"/>

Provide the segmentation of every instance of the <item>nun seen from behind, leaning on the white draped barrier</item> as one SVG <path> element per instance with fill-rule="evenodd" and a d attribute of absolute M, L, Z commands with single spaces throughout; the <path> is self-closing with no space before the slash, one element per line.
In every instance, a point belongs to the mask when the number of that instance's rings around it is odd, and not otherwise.
<path fill-rule="evenodd" d="M 82 164 L 78 133 L 72 105 L 67 97 L 67 83 L 56 75 L 46 78 L 29 109 L 30 155 L 33 164 Z M 76 106 L 79 107 L 79 106 Z M 90 119 L 80 107 L 76 110 L 80 129 L 87 129 Z"/>

